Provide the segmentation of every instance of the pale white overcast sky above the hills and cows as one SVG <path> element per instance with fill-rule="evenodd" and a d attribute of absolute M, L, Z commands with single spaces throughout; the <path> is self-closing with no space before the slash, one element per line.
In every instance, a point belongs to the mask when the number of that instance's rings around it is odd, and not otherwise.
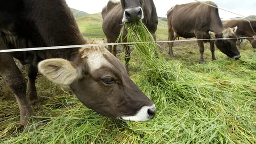
<path fill-rule="evenodd" d="M 89 14 L 99 13 L 102 7 L 107 4 L 109 0 L 66 0 L 69 7 L 84 11 Z M 195 2 L 193 0 L 154 0 L 158 17 L 166 17 L 166 13 L 172 6 L 176 4 L 184 4 Z M 219 8 L 225 9 L 245 17 L 249 15 L 256 15 L 256 1 L 255 0 L 213 0 Z M 229 19 L 241 17 L 236 14 L 219 10 L 220 18 Z"/>

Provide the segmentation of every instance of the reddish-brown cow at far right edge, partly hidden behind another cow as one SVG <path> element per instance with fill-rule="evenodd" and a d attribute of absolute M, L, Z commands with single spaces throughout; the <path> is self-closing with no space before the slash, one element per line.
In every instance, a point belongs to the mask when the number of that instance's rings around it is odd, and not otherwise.
<path fill-rule="evenodd" d="M 250 21 L 246 19 L 229 19 L 222 20 L 222 23 L 225 28 L 237 26 L 235 33 L 237 37 L 254 37 L 246 39 L 252 44 L 253 49 L 256 49 L 256 33 L 252 29 Z M 241 47 L 239 42 L 238 46 Z"/>

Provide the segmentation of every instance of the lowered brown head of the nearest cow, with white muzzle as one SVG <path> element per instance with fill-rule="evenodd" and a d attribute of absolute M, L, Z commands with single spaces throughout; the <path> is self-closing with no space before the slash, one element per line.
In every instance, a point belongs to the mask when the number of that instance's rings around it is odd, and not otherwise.
<path fill-rule="evenodd" d="M 105 48 L 79 52 L 75 61 L 47 59 L 39 71 L 51 81 L 69 85 L 79 101 L 111 118 L 147 121 L 155 116 L 154 103 L 135 85 L 121 61 Z"/>

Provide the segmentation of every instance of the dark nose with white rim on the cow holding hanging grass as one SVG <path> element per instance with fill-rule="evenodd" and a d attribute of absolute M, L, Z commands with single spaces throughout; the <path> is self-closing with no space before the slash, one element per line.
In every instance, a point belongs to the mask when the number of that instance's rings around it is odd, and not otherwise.
<path fill-rule="evenodd" d="M 131 22 L 143 19 L 143 11 L 141 7 L 134 7 L 126 9 L 124 12 L 124 19 L 126 19 L 125 22 Z"/>

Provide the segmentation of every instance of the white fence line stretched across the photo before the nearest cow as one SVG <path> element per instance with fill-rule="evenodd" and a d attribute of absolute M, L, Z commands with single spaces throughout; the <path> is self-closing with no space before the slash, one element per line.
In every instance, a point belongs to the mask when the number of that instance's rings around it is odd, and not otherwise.
<path fill-rule="evenodd" d="M 238 37 L 238 38 L 254 38 L 254 37 Z M 156 42 L 132 42 L 132 43 L 101 43 L 101 44 L 84 44 L 84 45 L 65 45 L 65 46 L 49 46 L 49 47 L 30 47 L 21 49 L 8 49 L 0 50 L 3 52 L 20 52 L 20 51 L 38 51 L 38 50 L 53 50 L 53 49 L 70 49 L 75 47 L 92 47 L 92 46 L 108 46 L 108 45 L 124 45 L 124 44 L 138 44 L 138 43 L 167 43 L 167 42 L 186 42 L 186 41 L 210 41 L 210 40 L 223 40 L 223 39 L 236 39 L 236 38 L 215 38 L 215 39 L 184 39 L 178 41 L 156 41 Z"/>

